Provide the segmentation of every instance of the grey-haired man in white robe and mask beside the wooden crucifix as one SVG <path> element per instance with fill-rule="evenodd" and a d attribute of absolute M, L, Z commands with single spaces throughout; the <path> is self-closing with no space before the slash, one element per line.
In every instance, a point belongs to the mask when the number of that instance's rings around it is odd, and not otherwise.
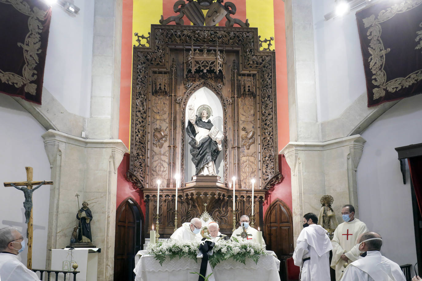
<path fill-rule="evenodd" d="M 35 281 L 40 280 L 18 260 L 18 254 L 25 249 L 25 241 L 14 227 L 0 229 L 0 280 Z"/>

